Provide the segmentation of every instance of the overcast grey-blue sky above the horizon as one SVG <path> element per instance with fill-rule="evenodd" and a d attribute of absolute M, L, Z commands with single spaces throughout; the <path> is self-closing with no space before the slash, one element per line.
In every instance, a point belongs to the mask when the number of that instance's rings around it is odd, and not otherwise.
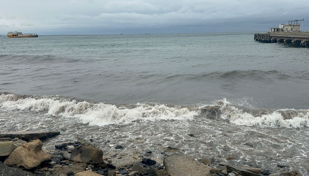
<path fill-rule="evenodd" d="M 294 19 L 309 31 L 308 9 L 308 0 L 0 0 L 0 34 L 267 32 Z"/>

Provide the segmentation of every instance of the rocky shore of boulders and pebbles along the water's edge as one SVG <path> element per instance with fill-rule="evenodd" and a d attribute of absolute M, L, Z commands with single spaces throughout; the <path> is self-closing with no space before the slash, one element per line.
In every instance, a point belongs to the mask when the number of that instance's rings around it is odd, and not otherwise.
<path fill-rule="evenodd" d="M 198 160 L 171 147 L 161 153 L 163 161 L 153 160 L 151 150 L 127 153 L 121 145 L 115 147 L 115 153 L 104 153 L 91 139 L 78 138 L 44 151 L 42 141 L 56 135 L 60 133 L 0 133 L 0 176 L 301 176 L 293 170 L 273 173 L 214 158 Z"/>

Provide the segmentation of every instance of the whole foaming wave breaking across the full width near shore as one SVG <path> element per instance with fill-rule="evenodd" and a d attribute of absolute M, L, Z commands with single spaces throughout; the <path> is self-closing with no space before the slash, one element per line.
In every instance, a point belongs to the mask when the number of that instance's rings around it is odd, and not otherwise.
<path fill-rule="evenodd" d="M 136 121 L 194 120 L 216 118 L 236 125 L 257 127 L 309 127 L 309 109 L 254 109 L 232 105 L 226 99 L 212 105 L 164 105 L 136 103 L 111 105 L 62 96 L 33 96 L 0 92 L 0 108 L 46 111 L 53 116 L 77 118 L 89 125 L 128 124 Z M 205 119 L 206 120 L 206 119 Z"/>

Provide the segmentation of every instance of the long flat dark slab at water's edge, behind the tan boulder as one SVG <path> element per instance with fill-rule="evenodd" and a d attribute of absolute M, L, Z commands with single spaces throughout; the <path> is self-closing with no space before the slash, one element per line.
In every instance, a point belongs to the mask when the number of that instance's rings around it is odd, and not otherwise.
<path fill-rule="evenodd" d="M 34 131 L 34 132 L 11 132 L 11 133 L 0 133 L 0 138 L 19 138 L 22 140 L 44 140 L 46 138 L 54 137 L 59 135 L 59 131 Z"/>

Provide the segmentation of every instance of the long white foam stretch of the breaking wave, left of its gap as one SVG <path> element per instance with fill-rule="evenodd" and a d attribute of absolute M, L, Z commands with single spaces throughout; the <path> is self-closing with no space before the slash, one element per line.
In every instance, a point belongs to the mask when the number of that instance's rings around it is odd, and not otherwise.
<path fill-rule="evenodd" d="M 138 103 L 134 108 L 126 108 L 105 103 L 55 100 L 46 97 L 15 100 L 14 96 L 14 94 L 2 94 L 0 106 L 4 109 L 48 111 L 49 115 L 78 118 L 83 123 L 98 126 L 114 123 L 127 124 L 137 120 L 187 120 L 198 115 L 197 111 L 190 111 L 188 108 L 167 107 L 163 104 Z"/>

